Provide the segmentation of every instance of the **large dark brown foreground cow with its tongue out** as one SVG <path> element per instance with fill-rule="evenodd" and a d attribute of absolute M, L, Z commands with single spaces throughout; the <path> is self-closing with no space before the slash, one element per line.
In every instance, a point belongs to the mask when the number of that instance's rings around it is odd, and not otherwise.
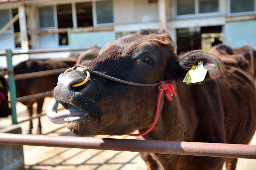
<path fill-rule="evenodd" d="M 160 99 L 158 120 L 147 140 L 246 144 L 256 128 L 256 90 L 248 61 L 223 64 L 221 56 L 201 50 L 178 57 L 165 31 L 140 30 L 106 44 L 86 66 L 112 77 L 136 83 L 167 80 L 176 93 Z M 203 62 L 205 81 L 188 85 L 182 80 L 193 65 Z M 247 68 L 243 70 L 242 68 Z M 248 69 L 249 68 L 249 69 Z M 65 123 L 77 135 L 125 135 L 147 131 L 157 108 L 158 88 L 118 83 L 72 70 L 60 74 L 48 118 Z M 171 85 L 170 85 L 171 87 Z M 163 87 L 162 87 L 163 89 Z M 159 89 L 161 91 L 161 88 Z M 57 101 L 67 110 L 57 114 Z M 221 170 L 224 158 L 140 153 L 148 169 Z M 228 170 L 237 159 L 227 159 Z"/>

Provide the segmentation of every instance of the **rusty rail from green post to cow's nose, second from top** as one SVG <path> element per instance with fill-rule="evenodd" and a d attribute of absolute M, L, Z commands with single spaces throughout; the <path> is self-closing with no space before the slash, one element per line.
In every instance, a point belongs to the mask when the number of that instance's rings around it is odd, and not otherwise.
<path fill-rule="evenodd" d="M 35 78 L 35 77 L 43 77 L 47 75 L 54 75 L 54 74 L 59 74 L 63 73 L 67 68 L 59 68 L 59 69 L 54 69 L 54 70 L 45 70 L 45 71 L 37 71 L 37 72 L 31 72 L 31 73 L 24 73 L 24 74 L 16 74 L 14 75 L 14 80 L 23 80 L 23 79 L 30 79 L 30 78 Z"/>

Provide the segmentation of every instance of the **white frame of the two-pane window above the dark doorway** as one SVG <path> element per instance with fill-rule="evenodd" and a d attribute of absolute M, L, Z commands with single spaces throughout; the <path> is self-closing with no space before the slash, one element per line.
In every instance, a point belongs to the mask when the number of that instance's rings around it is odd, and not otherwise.
<path fill-rule="evenodd" d="M 195 1 L 195 14 L 185 14 L 185 15 L 177 15 L 177 12 L 178 12 L 177 11 L 177 1 L 178 0 L 174 0 L 175 18 L 176 19 L 221 15 L 221 0 L 218 0 L 218 12 L 209 12 L 209 13 L 199 13 L 199 0 L 194 0 Z"/>

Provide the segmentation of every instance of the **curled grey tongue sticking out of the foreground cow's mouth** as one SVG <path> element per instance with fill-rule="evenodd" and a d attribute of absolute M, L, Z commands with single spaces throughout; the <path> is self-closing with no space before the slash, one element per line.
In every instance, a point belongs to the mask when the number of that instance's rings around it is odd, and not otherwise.
<path fill-rule="evenodd" d="M 55 124 L 63 124 L 64 121 L 74 121 L 81 118 L 81 116 L 85 116 L 84 111 L 76 107 L 70 107 L 66 111 L 57 114 L 57 107 L 58 101 L 52 99 L 46 109 L 47 118 Z"/>

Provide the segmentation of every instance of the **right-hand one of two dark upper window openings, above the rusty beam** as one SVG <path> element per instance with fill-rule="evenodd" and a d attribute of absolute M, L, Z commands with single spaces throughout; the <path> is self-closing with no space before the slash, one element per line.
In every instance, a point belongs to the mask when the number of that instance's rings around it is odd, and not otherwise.
<path fill-rule="evenodd" d="M 91 2 L 76 3 L 77 27 L 93 26 L 93 8 Z"/>

